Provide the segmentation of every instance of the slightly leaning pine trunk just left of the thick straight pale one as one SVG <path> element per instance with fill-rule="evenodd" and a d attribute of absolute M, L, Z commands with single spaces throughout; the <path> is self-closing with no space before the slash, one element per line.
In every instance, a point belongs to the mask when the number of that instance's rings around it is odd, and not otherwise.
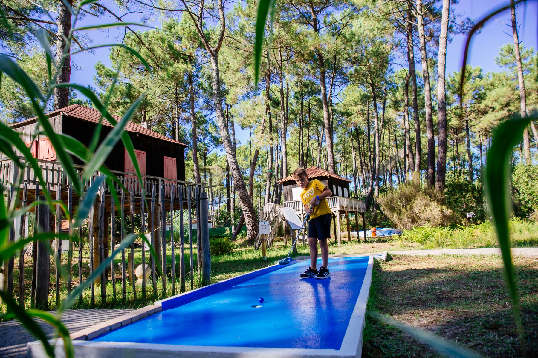
<path fill-rule="evenodd" d="M 416 22 L 419 27 L 420 57 L 422 62 L 422 78 L 424 79 L 424 111 L 426 112 L 426 134 L 428 138 L 426 182 L 429 187 L 435 186 L 435 137 L 434 118 L 431 111 L 430 74 L 428 70 L 428 53 L 426 52 L 426 34 L 422 17 L 422 0 L 416 0 Z"/>

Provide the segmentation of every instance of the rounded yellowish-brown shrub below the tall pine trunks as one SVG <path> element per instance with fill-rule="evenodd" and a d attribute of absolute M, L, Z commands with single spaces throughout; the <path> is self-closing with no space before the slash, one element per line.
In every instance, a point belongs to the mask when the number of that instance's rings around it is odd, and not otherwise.
<path fill-rule="evenodd" d="M 379 198 L 381 209 L 398 228 L 437 227 L 450 222 L 452 211 L 441 204 L 441 196 L 419 182 L 401 184 Z"/>

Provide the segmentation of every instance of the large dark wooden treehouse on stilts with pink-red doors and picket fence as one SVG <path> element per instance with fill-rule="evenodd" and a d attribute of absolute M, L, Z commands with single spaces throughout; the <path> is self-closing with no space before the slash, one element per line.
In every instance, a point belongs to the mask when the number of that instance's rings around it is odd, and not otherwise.
<path fill-rule="evenodd" d="M 96 109 L 85 107 L 82 105 L 72 105 L 65 108 L 58 109 L 56 111 L 50 112 L 47 114 L 48 121 L 51 123 L 55 133 L 65 134 L 72 136 L 82 142 L 82 144 L 89 147 L 91 138 L 94 134 L 94 131 L 101 120 L 101 113 L 96 111 Z M 114 116 L 116 120 L 121 120 L 120 117 Z M 112 125 L 108 120 L 101 120 L 102 129 L 100 134 L 99 143 L 101 143 L 105 136 L 112 129 Z M 72 213 L 75 213 L 75 209 L 78 206 L 79 201 L 82 198 L 79 198 L 72 190 L 72 183 L 69 182 L 67 176 L 64 173 L 64 169 L 60 162 L 56 158 L 56 153 L 54 148 L 51 145 L 49 138 L 41 134 L 43 128 L 39 125 L 37 118 L 32 118 L 23 122 L 14 123 L 11 125 L 11 128 L 16 130 L 21 134 L 22 140 L 26 145 L 31 149 L 31 152 L 34 157 L 38 160 L 39 166 L 41 168 L 41 173 L 45 180 L 45 186 L 39 184 L 39 180 L 34 172 L 34 169 L 30 166 L 29 163 L 26 163 L 26 167 L 23 170 L 19 170 L 17 166 L 4 154 L 1 154 L 0 157 L 0 183 L 4 188 L 11 189 L 14 187 L 13 183 L 22 183 L 20 186 L 16 185 L 14 189 L 17 191 L 18 197 L 18 206 L 30 206 L 30 204 L 36 200 L 39 196 L 42 196 L 44 191 L 48 191 L 53 199 L 58 199 L 65 202 L 69 210 Z M 75 260 L 78 260 L 78 269 L 79 269 L 79 280 L 82 280 L 82 257 L 84 255 L 83 251 L 88 250 L 86 256 L 91 258 L 90 261 L 90 271 L 94 269 L 97 265 L 100 264 L 105 258 L 108 257 L 110 252 L 114 250 L 116 244 L 118 244 L 121 239 L 128 235 L 130 232 L 143 232 L 146 233 L 147 230 L 150 231 L 150 234 L 146 234 L 146 237 L 151 237 L 152 243 L 154 244 L 155 251 L 158 253 L 158 261 L 166 262 L 166 245 L 174 247 L 174 235 L 173 235 L 173 216 L 183 217 L 183 210 L 188 209 L 189 218 L 195 216 L 194 210 L 196 210 L 196 217 L 202 219 L 201 222 L 208 222 L 207 220 L 207 194 L 204 192 L 204 187 L 201 184 L 196 184 L 194 182 L 185 181 L 185 148 L 186 144 L 175 141 L 171 138 L 168 138 L 164 135 L 156 133 L 151 130 L 151 125 L 149 123 L 142 123 L 142 125 L 137 125 L 136 123 L 129 122 L 125 127 L 125 131 L 128 133 L 131 138 L 134 151 L 136 154 L 138 166 L 140 168 L 142 180 L 139 182 L 138 177 L 136 176 L 134 165 L 127 154 L 123 142 L 118 141 L 114 149 L 111 151 L 107 160 L 105 160 L 104 165 L 115 174 L 119 182 L 121 182 L 127 191 L 125 191 L 121 185 L 115 183 L 114 186 L 104 185 L 101 187 L 101 191 L 97 196 L 96 202 L 93 204 L 90 209 L 89 218 L 84 222 L 84 230 L 82 226 L 80 228 L 73 228 L 72 235 L 84 236 L 79 240 L 78 247 L 74 247 L 72 242 L 68 242 L 69 249 L 74 250 Z M 19 156 L 20 152 L 16 152 Z M 24 157 L 20 156 L 20 160 L 24 160 Z M 83 163 L 80 159 L 72 156 L 74 162 L 74 169 L 79 176 L 83 177 Z M 91 173 L 89 180 L 82 183 L 84 191 L 87 191 L 91 185 L 91 182 L 95 180 L 96 177 L 100 176 L 99 172 Z M 113 193 L 115 193 L 119 199 L 119 204 L 113 204 Z M 38 206 L 39 207 L 39 206 Z M 43 208 L 47 210 L 46 208 Z M 36 220 L 40 222 L 41 226 L 45 224 L 45 218 L 39 214 L 39 210 L 32 208 L 30 211 L 36 211 Z M 179 214 L 174 210 L 179 210 Z M 61 214 L 60 209 L 56 209 L 56 216 L 54 213 L 47 214 L 49 216 L 49 230 L 61 232 L 65 230 L 65 215 Z M 62 217 L 63 216 L 63 217 Z M 119 216 L 119 221 L 118 221 Z M 205 220 L 204 220 L 205 218 Z M 63 223 L 62 223 L 63 219 Z M 42 222 L 43 221 L 43 222 Z M 139 223 L 141 221 L 140 228 L 135 230 L 135 222 Z M 181 272 L 181 290 L 184 290 L 185 287 L 185 267 L 183 266 L 183 230 L 189 228 L 183 228 L 183 220 L 180 220 L 181 227 L 176 228 L 180 231 L 181 243 L 177 243 L 181 246 L 180 253 L 180 272 Z M 190 220 L 188 221 L 191 222 Z M 130 226 L 130 232 L 122 231 L 122 228 L 125 227 L 125 224 Z M 171 227 L 172 225 L 172 227 Z M 22 215 L 17 218 L 15 221 L 15 237 L 13 240 L 17 240 L 19 237 L 27 237 L 29 225 L 29 215 Z M 67 225 L 68 227 L 69 225 Z M 86 229 L 87 226 L 87 229 Z M 187 224 L 190 227 L 190 224 Z M 204 226 L 204 225 L 202 225 Z M 207 225 L 206 225 L 207 226 Z M 169 236 L 166 236 L 165 230 L 160 230 L 160 228 L 170 228 Z M 58 229 L 56 229 L 58 228 Z M 146 229 L 147 228 L 147 229 Z M 199 236 L 196 240 L 196 243 L 204 242 L 201 238 L 201 235 L 209 235 L 207 228 L 201 228 L 197 230 L 197 235 Z M 190 240 L 190 248 L 192 255 L 192 230 L 188 232 L 187 237 Z M 58 241 L 58 240 L 56 240 Z M 59 243 L 53 245 L 54 251 L 56 253 L 65 252 L 65 247 L 62 249 L 62 243 L 60 240 Z M 168 241 L 168 242 L 167 242 Z M 88 249 L 85 249 L 84 243 L 87 243 Z M 38 247 L 39 246 L 39 247 Z M 46 247 L 45 247 L 46 246 Z M 200 245 L 198 245 L 200 246 Z M 128 264 L 121 264 L 121 280 L 125 283 L 125 275 L 129 276 L 129 281 L 132 281 L 132 290 L 134 296 L 136 297 L 137 288 L 134 286 L 134 246 L 131 245 L 132 250 L 128 252 L 127 259 Z M 138 248 L 137 248 L 138 249 Z M 149 260 L 149 252 L 145 252 L 144 242 L 141 242 L 141 255 L 143 261 L 147 262 Z M 197 247 L 200 250 L 200 247 Z M 48 307 L 48 275 L 47 265 L 35 266 L 37 257 L 41 254 L 40 257 L 47 258 L 49 255 L 46 254 L 48 250 L 51 250 L 49 245 L 44 245 L 41 247 L 41 243 L 38 245 L 34 244 L 33 247 L 28 247 L 26 251 L 33 251 L 34 258 L 34 272 L 32 276 L 32 288 L 30 295 L 32 297 L 32 304 L 36 303 L 38 306 Z M 42 252 L 40 252 L 43 251 Z M 172 249 L 173 250 L 173 249 Z M 209 248 L 208 248 L 209 250 Z M 37 252 L 36 252 L 37 251 Z M 172 251 L 174 252 L 174 251 Z M 78 253 L 78 258 L 76 255 Z M 72 257 L 70 253 L 69 257 Z M 19 299 L 24 302 L 25 290 L 24 287 L 24 276 L 23 270 L 20 269 L 24 267 L 24 253 L 20 254 L 20 257 L 23 257 L 22 260 L 19 259 Z M 61 256 L 61 254 L 60 254 Z M 125 255 L 122 255 L 125 256 Z M 202 265 L 202 256 L 199 257 L 199 268 Z M 205 256 L 204 256 L 205 257 Z M 50 257 L 48 257 L 50 259 Z M 191 258 L 192 260 L 192 258 Z M 48 260 L 46 260 L 48 261 Z M 69 262 L 69 268 L 72 266 L 72 263 Z M 126 267 L 129 266 L 129 267 Z M 145 276 L 145 265 L 143 266 L 144 276 Z M 152 262 L 151 267 L 156 267 L 155 263 Z M 10 269 L 13 269 L 13 266 L 10 266 Z M 112 270 L 114 266 L 112 266 Z M 167 269 L 171 274 L 173 288 L 172 293 L 175 291 L 175 257 L 172 258 L 172 267 L 167 268 L 166 265 L 162 267 L 163 272 L 158 272 L 163 276 L 167 275 Z M 191 269 L 191 284 L 192 284 L 192 265 Z M 105 275 L 102 275 L 101 280 L 108 281 L 109 275 L 110 280 L 114 282 L 115 273 L 110 273 L 110 269 Z M 157 269 L 151 269 L 152 275 L 155 275 Z M 200 271 L 199 271 L 200 272 Z M 41 274 L 43 273 L 43 274 Z M 11 290 L 13 289 L 13 275 L 11 275 L 11 282 L 6 286 L 11 284 Z M 43 280 L 41 286 L 46 286 L 46 293 L 44 289 L 39 289 L 40 283 L 36 282 L 36 277 Z M 2 278 L 2 277 L 0 277 Z M 154 291 L 157 289 L 155 287 L 155 276 L 150 277 L 150 281 L 153 282 Z M 58 300 L 59 295 L 59 274 L 56 272 L 56 299 Z M 6 280 L 4 280 L 6 281 Z M 39 280 L 38 280 L 39 281 Z M 145 294 L 145 278 L 143 280 L 143 294 Z M 68 291 L 71 289 L 70 276 L 68 282 Z M 123 297 L 125 297 L 125 286 L 130 286 L 123 284 Z M 162 280 L 162 289 L 163 293 L 166 294 L 166 280 Z M 101 302 L 106 302 L 104 285 L 102 287 L 102 296 Z M 91 287 L 91 300 L 94 303 L 94 285 Z M 116 290 L 114 290 L 114 295 L 116 295 Z M 119 294 L 118 294 L 119 295 Z"/>

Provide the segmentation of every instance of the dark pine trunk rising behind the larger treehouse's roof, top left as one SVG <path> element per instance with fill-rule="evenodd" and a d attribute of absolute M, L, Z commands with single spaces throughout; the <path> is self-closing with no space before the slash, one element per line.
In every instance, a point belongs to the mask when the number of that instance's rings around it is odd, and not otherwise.
<path fill-rule="evenodd" d="M 73 0 L 66 0 L 73 5 Z M 60 66 L 60 75 L 56 83 L 69 83 L 71 78 L 71 46 L 64 37 L 69 36 L 71 31 L 71 13 L 63 2 L 59 2 L 59 13 L 56 19 L 58 32 L 56 33 L 56 64 Z M 66 55 L 63 57 L 63 55 Z M 54 89 L 54 109 L 60 109 L 69 105 L 69 89 L 67 87 Z"/>

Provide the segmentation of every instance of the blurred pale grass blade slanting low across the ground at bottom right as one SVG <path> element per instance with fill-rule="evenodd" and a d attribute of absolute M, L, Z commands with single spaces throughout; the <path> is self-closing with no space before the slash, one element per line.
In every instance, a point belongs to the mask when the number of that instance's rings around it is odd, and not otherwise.
<path fill-rule="evenodd" d="M 480 355 L 471 352 L 464 347 L 457 345 L 455 342 L 443 339 L 438 335 L 430 333 L 428 331 L 420 330 L 413 326 L 404 324 L 386 315 L 381 315 L 377 312 L 368 312 L 368 314 L 388 325 L 398 328 L 400 331 L 404 331 L 416 339 L 427 344 L 429 347 L 437 350 L 437 352 L 447 356 L 455 358 L 479 358 Z"/>

